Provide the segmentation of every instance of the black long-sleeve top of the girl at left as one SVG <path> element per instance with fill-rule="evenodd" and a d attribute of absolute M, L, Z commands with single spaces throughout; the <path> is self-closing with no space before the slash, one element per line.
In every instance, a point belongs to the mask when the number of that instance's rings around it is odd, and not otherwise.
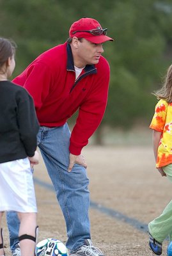
<path fill-rule="evenodd" d="M 10 81 L 0 81 L 0 163 L 34 156 L 38 129 L 29 93 Z"/>

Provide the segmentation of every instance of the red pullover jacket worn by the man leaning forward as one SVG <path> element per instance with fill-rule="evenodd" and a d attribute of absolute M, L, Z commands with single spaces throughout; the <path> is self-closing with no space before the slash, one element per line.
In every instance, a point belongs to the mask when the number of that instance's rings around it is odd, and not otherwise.
<path fill-rule="evenodd" d="M 97 65 L 86 65 L 75 81 L 72 51 L 65 43 L 43 52 L 13 83 L 24 86 L 33 97 L 40 125 L 64 125 L 79 109 L 69 148 L 79 155 L 104 115 L 109 73 L 109 64 L 101 56 Z"/>

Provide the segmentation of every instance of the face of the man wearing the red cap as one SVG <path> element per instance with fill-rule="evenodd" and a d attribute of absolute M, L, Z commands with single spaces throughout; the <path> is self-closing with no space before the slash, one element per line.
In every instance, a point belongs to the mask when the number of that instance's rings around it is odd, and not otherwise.
<path fill-rule="evenodd" d="M 82 67 L 97 64 L 102 52 L 104 52 L 102 44 L 93 44 L 85 38 L 82 38 L 81 42 L 78 41 L 77 59 Z"/>

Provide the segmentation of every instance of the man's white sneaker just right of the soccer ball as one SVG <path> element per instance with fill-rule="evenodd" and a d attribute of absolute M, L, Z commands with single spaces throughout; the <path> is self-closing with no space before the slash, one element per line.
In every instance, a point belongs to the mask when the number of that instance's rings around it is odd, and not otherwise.
<path fill-rule="evenodd" d="M 100 249 L 93 246 L 90 239 L 84 240 L 84 245 L 82 245 L 76 252 L 69 253 L 70 256 L 105 256 Z"/>

